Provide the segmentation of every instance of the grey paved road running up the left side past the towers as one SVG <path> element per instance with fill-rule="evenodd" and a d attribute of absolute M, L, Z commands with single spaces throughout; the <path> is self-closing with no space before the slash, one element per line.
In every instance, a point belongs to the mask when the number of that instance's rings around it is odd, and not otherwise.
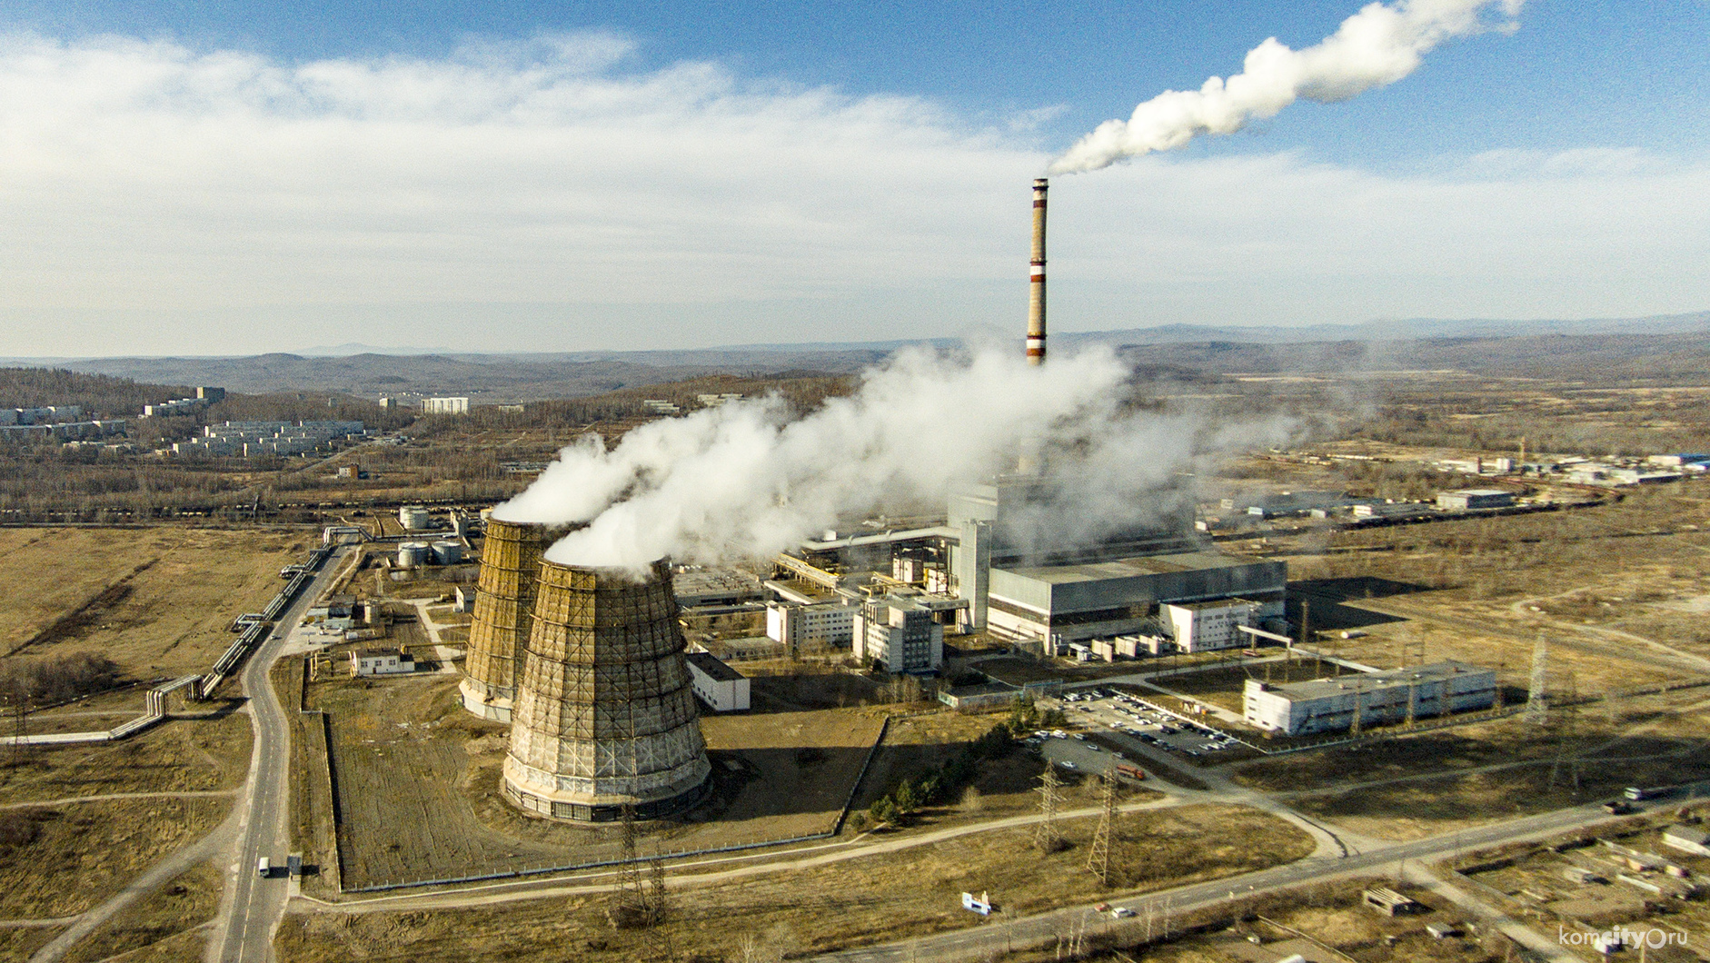
<path fill-rule="evenodd" d="M 209 963 L 267 963 L 274 958 L 274 929 L 286 913 L 289 881 L 284 874 L 291 848 L 291 729 L 286 710 L 268 682 L 274 662 L 291 638 L 303 612 L 327 590 L 349 549 L 339 549 L 321 566 L 298 600 L 279 619 L 279 628 L 250 657 L 243 671 L 243 691 L 250 696 L 250 725 L 255 749 L 250 754 L 250 780 L 239 802 L 236 843 L 226 850 L 226 888 L 214 936 L 209 939 Z M 270 877 L 256 872 L 262 857 L 279 871 Z"/>

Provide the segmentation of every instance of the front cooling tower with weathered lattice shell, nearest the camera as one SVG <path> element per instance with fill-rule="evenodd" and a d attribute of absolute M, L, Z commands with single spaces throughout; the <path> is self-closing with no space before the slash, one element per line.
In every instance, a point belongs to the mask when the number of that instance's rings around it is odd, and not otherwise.
<path fill-rule="evenodd" d="M 711 765 L 682 657 L 670 566 L 540 566 L 504 795 L 556 819 L 640 819 L 701 801 Z"/>

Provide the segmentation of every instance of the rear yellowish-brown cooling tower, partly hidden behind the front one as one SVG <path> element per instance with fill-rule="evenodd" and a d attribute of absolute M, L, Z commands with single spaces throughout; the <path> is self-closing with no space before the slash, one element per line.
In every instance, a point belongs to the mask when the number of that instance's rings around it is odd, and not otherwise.
<path fill-rule="evenodd" d="M 516 679 L 534 621 L 540 554 L 564 534 L 528 522 L 487 520 L 481 547 L 475 616 L 463 659 L 463 708 L 481 718 L 511 720 Z"/>

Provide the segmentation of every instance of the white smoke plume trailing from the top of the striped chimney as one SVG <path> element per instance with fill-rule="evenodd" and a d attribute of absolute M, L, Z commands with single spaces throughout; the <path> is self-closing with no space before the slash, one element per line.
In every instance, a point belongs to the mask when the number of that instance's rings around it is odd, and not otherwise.
<path fill-rule="evenodd" d="M 1134 108 L 1129 120 L 1106 120 L 1052 162 L 1053 174 L 1098 171 L 1117 161 L 1170 151 L 1200 133 L 1235 133 L 1252 120 L 1276 116 L 1300 97 L 1336 103 L 1412 74 L 1436 44 L 1488 29 L 1515 29 L 1525 0 L 1397 0 L 1368 3 L 1336 32 L 1306 50 L 1269 38 L 1247 53 L 1241 72 L 1212 77 L 1199 91 L 1165 91 Z M 1484 21 L 1488 9 L 1505 17 Z"/>

